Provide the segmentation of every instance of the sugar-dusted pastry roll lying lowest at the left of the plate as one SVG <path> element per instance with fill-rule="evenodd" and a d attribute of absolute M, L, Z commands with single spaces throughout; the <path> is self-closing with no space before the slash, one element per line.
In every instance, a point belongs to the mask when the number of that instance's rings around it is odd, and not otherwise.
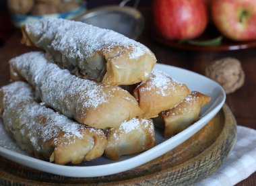
<path fill-rule="evenodd" d="M 30 85 L 16 81 L 0 89 L 5 129 L 18 146 L 37 158 L 59 165 L 77 164 L 101 156 L 106 136 L 100 129 L 77 124 L 34 101 Z"/>

